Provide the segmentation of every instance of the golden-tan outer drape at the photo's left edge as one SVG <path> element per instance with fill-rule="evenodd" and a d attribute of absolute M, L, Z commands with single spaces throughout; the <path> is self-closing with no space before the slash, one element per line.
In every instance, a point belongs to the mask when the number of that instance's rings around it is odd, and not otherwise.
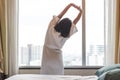
<path fill-rule="evenodd" d="M 6 54 L 7 54 L 7 38 L 6 38 L 6 10 L 5 10 L 5 0 L 0 0 L 0 61 L 1 70 L 7 74 L 6 70 Z"/>

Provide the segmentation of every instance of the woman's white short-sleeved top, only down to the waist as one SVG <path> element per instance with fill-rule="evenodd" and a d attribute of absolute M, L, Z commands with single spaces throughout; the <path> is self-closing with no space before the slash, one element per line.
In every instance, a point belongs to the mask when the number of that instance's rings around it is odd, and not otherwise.
<path fill-rule="evenodd" d="M 60 36 L 59 32 L 56 32 L 54 29 L 54 26 L 56 23 L 59 21 L 59 18 L 57 16 L 53 16 L 53 19 L 51 20 L 48 30 L 46 33 L 46 38 L 45 38 L 45 45 L 48 46 L 51 49 L 61 49 L 66 42 L 66 40 L 69 38 L 64 38 Z M 71 31 L 70 31 L 70 36 L 77 32 L 76 26 L 72 23 Z"/>

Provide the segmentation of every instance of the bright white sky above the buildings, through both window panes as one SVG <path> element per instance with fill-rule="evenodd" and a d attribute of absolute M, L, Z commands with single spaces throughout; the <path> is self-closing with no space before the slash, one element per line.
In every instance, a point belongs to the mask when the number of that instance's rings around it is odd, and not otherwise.
<path fill-rule="evenodd" d="M 88 43 L 103 43 L 104 27 L 102 26 L 104 21 L 101 16 L 104 16 L 104 12 L 101 9 L 104 6 L 102 6 L 102 1 L 104 0 L 86 0 L 86 39 L 88 39 Z M 59 14 L 70 2 L 82 6 L 81 0 L 19 0 L 19 45 L 43 45 L 45 33 L 52 16 Z M 65 16 L 69 16 L 73 20 L 77 13 L 77 10 L 71 8 Z M 82 44 L 81 20 L 77 27 L 79 32 L 67 43 L 73 42 L 72 45 Z"/>

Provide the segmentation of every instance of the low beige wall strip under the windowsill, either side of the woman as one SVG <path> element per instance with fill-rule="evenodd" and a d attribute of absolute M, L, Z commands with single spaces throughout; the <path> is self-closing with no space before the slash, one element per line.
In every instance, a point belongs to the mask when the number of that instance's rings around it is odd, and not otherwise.
<path fill-rule="evenodd" d="M 65 75 L 95 75 L 97 69 L 65 69 Z M 40 69 L 20 69 L 20 74 L 40 74 Z"/>

